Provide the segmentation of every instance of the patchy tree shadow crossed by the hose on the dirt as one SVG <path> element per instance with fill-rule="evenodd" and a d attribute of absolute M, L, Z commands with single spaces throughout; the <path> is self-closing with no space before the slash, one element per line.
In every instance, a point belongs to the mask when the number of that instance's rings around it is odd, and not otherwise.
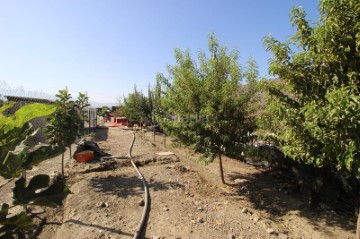
<path fill-rule="evenodd" d="M 161 182 L 153 181 L 147 182 L 149 189 L 154 191 L 166 191 L 173 189 L 184 189 L 185 186 L 176 182 Z M 130 196 L 140 196 L 144 193 L 144 188 L 141 180 L 136 176 L 108 176 L 105 178 L 92 178 L 89 185 L 95 188 L 96 191 L 106 195 L 116 195 L 121 198 L 128 198 Z"/>

